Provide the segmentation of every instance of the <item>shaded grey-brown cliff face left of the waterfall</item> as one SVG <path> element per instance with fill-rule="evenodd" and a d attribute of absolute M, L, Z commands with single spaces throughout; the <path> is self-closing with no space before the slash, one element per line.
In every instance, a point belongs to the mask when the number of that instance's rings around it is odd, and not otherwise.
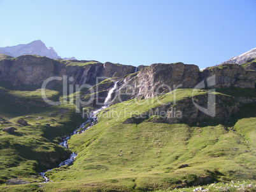
<path fill-rule="evenodd" d="M 68 83 L 95 85 L 97 77 L 122 78 L 134 72 L 134 66 L 96 61 L 53 60 L 35 55 L 0 60 L 0 81 L 10 81 L 13 85 L 42 85 L 45 79 L 53 76 L 73 78 Z M 62 83 L 62 82 L 58 82 Z"/>

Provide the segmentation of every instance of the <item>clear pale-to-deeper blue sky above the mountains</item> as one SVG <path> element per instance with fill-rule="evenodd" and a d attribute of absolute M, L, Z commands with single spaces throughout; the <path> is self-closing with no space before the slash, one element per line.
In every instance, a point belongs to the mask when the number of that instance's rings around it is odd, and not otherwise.
<path fill-rule="evenodd" d="M 220 64 L 256 47 L 256 0 L 0 0 L 0 47 L 41 39 L 60 57 Z"/>

